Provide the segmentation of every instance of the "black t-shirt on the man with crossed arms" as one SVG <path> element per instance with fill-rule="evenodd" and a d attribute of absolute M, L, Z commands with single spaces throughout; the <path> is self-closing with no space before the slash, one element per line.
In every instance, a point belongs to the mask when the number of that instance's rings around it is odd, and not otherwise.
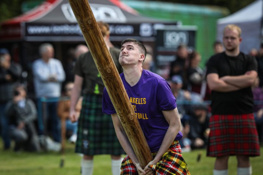
<path fill-rule="evenodd" d="M 255 57 L 240 52 L 238 56 L 227 56 L 225 52 L 212 56 L 207 64 L 207 75 L 216 73 L 220 77 L 243 75 L 249 70 L 257 71 Z M 212 114 L 253 113 L 253 94 L 251 87 L 233 92 L 212 91 Z"/>

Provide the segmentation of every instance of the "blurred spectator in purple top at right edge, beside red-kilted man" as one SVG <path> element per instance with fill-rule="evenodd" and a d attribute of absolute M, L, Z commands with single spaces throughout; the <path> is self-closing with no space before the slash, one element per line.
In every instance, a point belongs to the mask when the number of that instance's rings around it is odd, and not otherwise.
<path fill-rule="evenodd" d="M 255 117 L 255 122 L 256 122 L 256 129 L 258 132 L 258 137 L 259 141 L 263 141 L 263 92 L 262 88 L 259 87 L 259 78 L 256 79 L 254 85 L 252 86 L 252 92 L 253 92 L 253 98 L 255 103 L 260 103 L 260 104 L 255 104 L 254 105 L 254 117 Z"/>

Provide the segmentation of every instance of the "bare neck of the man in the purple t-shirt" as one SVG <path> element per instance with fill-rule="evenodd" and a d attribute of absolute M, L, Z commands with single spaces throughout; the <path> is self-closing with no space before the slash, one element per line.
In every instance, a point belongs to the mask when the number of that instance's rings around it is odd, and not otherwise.
<path fill-rule="evenodd" d="M 125 80 L 130 86 L 138 83 L 142 74 L 142 67 L 123 67 Z"/>

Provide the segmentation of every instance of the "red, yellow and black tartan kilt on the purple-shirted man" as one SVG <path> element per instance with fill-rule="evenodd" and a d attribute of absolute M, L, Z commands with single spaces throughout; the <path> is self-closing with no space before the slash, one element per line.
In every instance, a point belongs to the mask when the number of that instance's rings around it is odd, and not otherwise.
<path fill-rule="evenodd" d="M 153 157 L 156 154 L 157 152 L 152 153 Z M 182 150 L 178 141 L 173 141 L 172 145 L 162 156 L 162 159 L 156 165 L 150 165 L 149 168 L 153 170 L 154 175 L 190 175 L 187 164 L 182 157 Z M 138 174 L 128 155 L 122 160 L 121 174 Z"/>

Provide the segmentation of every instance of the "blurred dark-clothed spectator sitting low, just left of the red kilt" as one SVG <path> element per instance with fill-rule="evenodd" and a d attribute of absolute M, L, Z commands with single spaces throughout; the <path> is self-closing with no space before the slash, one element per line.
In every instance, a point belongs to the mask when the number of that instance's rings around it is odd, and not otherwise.
<path fill-rule="evenodd" d="M 205 148 L 209 136 L 209 115 L 206 105 L 195 105 L 193 115 L 190 115 L 190 132 L 188 138 L 191 139 L 191 147 Z"/>

